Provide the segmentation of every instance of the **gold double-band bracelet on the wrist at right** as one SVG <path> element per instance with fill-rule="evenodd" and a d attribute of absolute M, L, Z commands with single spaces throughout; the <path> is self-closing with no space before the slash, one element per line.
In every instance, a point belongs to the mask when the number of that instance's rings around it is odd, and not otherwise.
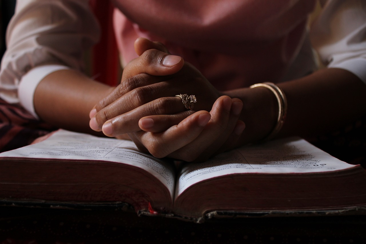
<path fill-rule="evenodd" d="M 255 87 L 265 87 L 269 89 L 276 96 L 278 103 L 278 116 L 276 126 L 273 128 L 272 132 L 268 134 L 263 140 L 268 141 L 275 137 L 281 130 L 283 123 L 285 122 L 286 114 L 287 114 L 287 99 L 283 90 L 281 90 L 278 86 L 271 82 L 258 83 L 251 85 L 250 88 Z"/>

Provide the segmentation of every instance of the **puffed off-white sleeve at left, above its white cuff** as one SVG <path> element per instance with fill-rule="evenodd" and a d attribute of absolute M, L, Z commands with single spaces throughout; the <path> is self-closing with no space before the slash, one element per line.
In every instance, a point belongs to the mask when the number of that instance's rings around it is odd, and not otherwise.
<path fill-rule="evenodd" d="M 40 80 L 34 79 L 44 78 L 48 71 L 30 73 L 31 79 L 23 76 L 46 64 L 83 70 L 83 54 L 99 36 L 100 28 L 89 0 L 18 0 L 7 29 L 7 50 L 1 60 L 0 97 L 9 103 L 22 100 L 22 105 L 29 109 L 33 100 L 29 104 L 30 96 L 18 97 L 19 84 L 31 82 L 29 87 L 35 89 L 34 84 Z"/>

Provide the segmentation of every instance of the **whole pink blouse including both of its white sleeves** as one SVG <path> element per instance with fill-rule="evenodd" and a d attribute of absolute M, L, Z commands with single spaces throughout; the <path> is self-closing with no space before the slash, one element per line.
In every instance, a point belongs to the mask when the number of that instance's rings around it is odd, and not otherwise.
<path fill-rule="evenodd" d="M 219 90 L 306 75 L 316 69 L 314 50 L 326 66 L 366 82 L 365 0 L 320 0 L 324 8 L 310 31 L 315 0 L 111 1 L 124 64 L 136 57 L 135 39 L 147 37 L 192 63 Z M 99 35 L 89 0 L 17 1 L 0 97 L 36 116 L 38 82 L 59 69 L 82 70 L 83 53 Z"/>

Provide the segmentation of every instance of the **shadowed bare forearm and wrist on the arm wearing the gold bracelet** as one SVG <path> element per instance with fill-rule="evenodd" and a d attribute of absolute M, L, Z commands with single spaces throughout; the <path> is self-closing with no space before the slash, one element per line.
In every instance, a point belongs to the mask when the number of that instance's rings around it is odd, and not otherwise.
<path fill-rule="evenodd" d="M 346 70 L 322 69 L 277 85 L 288 101 L 287 117 L 279 137 L 309 137 L 330 132 L 366 112 L 366 85 Z M 244 103 L 241 119 L 246 123 L 246 129 L 240 143 L 258 141 L 270 133 L 278 112 L 270 90 L 246 88 L 226 94 L 239 97 Z"/>

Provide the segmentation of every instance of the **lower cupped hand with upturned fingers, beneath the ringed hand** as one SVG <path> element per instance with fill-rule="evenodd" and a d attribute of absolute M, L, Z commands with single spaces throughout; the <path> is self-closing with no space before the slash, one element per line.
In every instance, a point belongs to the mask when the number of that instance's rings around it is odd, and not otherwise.
<path fill-rule="evenodd" d="M 210 112 L 197 111 L 178 124 L 175 115 L 143 117 L 139 121 L 142 131 L 129 136 L 141 151 L 157 158 L 203 162 L 234 147 L 245 128 L 238 120 L 242 108 L 240 99 L 221 96 Z M 173 125 L 166 129 L 167 124 Z"/>

